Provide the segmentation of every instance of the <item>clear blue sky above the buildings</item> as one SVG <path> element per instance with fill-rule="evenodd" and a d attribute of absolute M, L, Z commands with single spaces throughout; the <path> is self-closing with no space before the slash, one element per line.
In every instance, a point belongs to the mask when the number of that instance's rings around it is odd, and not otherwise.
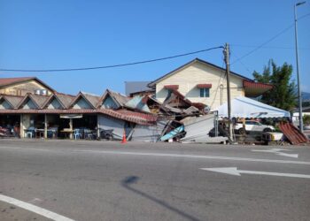
<path fill-rule="evenodd" d="M 0 68 L 58 69 L 116 65 L 229 42 L 231 60 L 293 23 L 294 0 L 78 1 L 0 0 Z M 298 16 L 310 13 L 310 1 Z M 298 21 L 302 88 L 310 92 L 310 16 Z M 105 88 L 124 92 L 124 81 L 155 80 L 199 57 L 223 65 L 221 50 L 152 64 L 82 72 L 0 72 L 0 77 L 36 76 L 59 92 Z M 231 69 L 252 78 L 269 58 L 294 67 L 293 27 Z"/>

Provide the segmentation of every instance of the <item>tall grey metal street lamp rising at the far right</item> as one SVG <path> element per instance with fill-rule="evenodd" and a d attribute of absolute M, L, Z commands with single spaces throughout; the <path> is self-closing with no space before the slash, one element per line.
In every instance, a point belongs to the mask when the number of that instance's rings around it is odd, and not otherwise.
<path fill-rule="evenodd" d="M 297 70 L 297 81 L 298 81 L 298 105 L 299 105 L 299 131 L 303 132 L 303 122 L 302 122 L 302 100 L 301 100 L 301 91 L 300 91 L 300 80 L 299 80 L 299 66 L 298 66 L 298 38 L 297 38 L 297 16 L 296 8 L 305 4 L 306 2 L 300 2 L 294 4 L 294 17 L 295 17 L 295 49 L 296 49 L 296 70 Z"/>

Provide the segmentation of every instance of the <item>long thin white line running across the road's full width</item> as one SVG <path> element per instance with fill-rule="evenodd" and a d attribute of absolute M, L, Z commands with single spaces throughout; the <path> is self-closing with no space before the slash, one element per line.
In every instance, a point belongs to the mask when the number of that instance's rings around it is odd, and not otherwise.
<path fill-rule="evenodd" d="M 33 151 L 48 151 L 60 153 L 94 153 L 94 154 L 112 154 L 112 155 L 131 155 L 131 156 L 169 156 L 169 157 L 185 157 L 185 158 L 199 158 L 199 159 L 217 159 L 217 160 L 232 160 L 232 161 L 247 161 L 247 162 L 260 162 L 260 163 L 275 163 L 275 164 L 306 164 L 310 165 L 308 161 L 291 161 L 291 160 L 273 160 L 273 159 L 260 159 L 260 158 L 244 158 L 232 156 L 208 156 L 208 155 L 182 155 L 182 154 L 160 154 L 160 153 L 147 153 L 147 152 L 128 152 L 128 151 L 112 151 L 112 150 L 59 150 L 59 149 L 34 149 L 34 148 L 16 148 L 16 147 L 0 147 L 0 149 L 22 149 Z"/>

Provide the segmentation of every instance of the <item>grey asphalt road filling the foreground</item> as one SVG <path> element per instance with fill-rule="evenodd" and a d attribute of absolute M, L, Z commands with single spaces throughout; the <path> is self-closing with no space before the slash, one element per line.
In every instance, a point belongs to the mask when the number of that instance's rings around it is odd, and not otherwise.
<path fill-rule="evenodd" d="M 0 140 L 0 220 L 310 220 L 310 148 L 277 148 Z"/>

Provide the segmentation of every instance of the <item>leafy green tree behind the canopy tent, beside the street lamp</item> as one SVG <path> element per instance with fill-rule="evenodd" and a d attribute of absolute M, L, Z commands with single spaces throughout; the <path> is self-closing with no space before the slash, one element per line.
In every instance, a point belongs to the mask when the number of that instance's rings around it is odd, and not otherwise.
<path fill-rule="evenodd" d="M 284 63 L 282 66 L 277 66 L 270 59 L 261 74 L 254 71 L 253 77 L 255 81 L 274 86 L 274 88 L 261 95 L 260 102 L 283 110 L 294 109 L 297 105 L 297 93 L 295 82 L 291 80 L 292 70 L 291 65 Z"/>

